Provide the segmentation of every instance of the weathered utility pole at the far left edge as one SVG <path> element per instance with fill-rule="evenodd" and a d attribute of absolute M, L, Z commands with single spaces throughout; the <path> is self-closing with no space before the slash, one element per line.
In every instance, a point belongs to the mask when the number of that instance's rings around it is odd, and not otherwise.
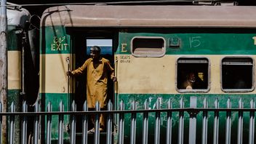
<path fill-rule="evenodd" d="M 2 111 L 7 112 L 7 0 L 1 0 L 0 15 L 0 98 Z M 2 141 L 8 143 L 7 116 L 2 118 Z"/>

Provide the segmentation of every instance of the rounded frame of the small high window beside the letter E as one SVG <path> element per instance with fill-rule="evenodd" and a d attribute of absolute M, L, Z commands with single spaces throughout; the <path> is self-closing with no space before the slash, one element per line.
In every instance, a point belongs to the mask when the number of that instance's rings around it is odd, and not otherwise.
<path fill-rule="evenodd" d="M 158 55 L 158 54 L 142 54 L 142 55 L 137 55 L 133 52 L 133 40 L 134 39 L 162 39 L 164 41 L 164 47 L 162 47 L 162 53 L 161 55 Z M 135 57 L 163 57 L 166 53 L 166 49 L 167 49 L 167 44 L 166 44 L 166 41 L 164 39 L 164 37 L 162 36 L 135 36 L 132 38 L 131 40 L 131 47 L 130 47 L 130 50 L 131 50 L 131 53 L 133 56 Z"/>

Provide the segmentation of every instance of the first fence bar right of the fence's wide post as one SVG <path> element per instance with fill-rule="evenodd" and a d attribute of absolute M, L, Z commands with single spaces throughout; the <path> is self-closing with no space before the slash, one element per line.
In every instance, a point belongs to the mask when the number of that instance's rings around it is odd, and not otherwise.
<path fill-rule="evenodd" d="M 204 98 L 204 108 L 208 108 L 207 98 Z M 203 111 L 202 144 L 207 144 L 208 111 Z"/>

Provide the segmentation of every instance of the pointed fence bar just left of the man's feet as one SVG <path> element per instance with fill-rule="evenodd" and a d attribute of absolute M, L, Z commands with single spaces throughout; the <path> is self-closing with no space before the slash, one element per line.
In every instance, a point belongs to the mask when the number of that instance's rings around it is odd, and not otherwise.
<path fill-rule="evenodd" d="M 85 100 L 85 102 L 84 102 L 83 111 L 88 111 L 87 100 Z M 82 143 L 83 144 L 87 143 L 87 139 L 88 139 L 87 130 L 88 130 L 88 116 L 87 116 L 87 114 L 85 114 L 83 116 L 83 129 L 82 129 Z"/>

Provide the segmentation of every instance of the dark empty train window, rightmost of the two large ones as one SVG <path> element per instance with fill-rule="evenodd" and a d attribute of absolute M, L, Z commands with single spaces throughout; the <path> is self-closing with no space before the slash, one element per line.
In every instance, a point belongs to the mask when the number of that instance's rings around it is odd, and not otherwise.
<path fill-rule="evenodd" d="M 250 57 L 225 57 L 221 65 L 224 92 L 250 92 L 254 89 L 253 60 Z"/>

